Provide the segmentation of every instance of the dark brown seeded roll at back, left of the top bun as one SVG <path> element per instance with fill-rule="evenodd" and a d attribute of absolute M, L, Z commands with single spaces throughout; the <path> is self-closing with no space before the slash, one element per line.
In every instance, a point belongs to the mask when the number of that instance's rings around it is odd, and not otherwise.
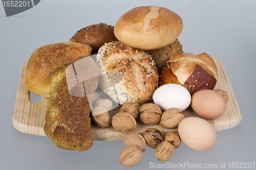
<path fill-rule="evenodd" d="M 105 23 L 94 24 L 77 31 L 72 38 L 71 42 L 78 42 L 92 47 L 92 52 L 98 52 L 99 48 L 104 43 L 116 41 L 114 35 L 114 27 L 106 25 Z"/>

